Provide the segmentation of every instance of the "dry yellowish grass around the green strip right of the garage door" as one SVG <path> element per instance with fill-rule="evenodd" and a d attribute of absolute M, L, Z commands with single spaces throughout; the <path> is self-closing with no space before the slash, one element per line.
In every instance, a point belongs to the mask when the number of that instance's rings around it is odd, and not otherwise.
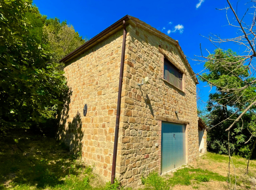
<path fill-rule="evenodd" d="M 237 189 L 256 189 L 256 160 L 250 161 L 249 167 L 249 175 L 245 175 L 247 160 L 245 158 L 239 156 L 233 156 L 232 160 L 235 165 L 236 176 L 237 176 Z M 209 170 L 214 173 L 218 173 L 221 176 L 228 176 L 228 161 L 229 157 L 227 155 L 218 155 L 214 153 L 207 153 L 193 162 L 190 162 L 187 167 L 200 168 L 203 170 Z M 192 174 L 192 173 L 191 173 Z M 234 183 L 234 170 L 233 166 L 230 167 L 230 174 L 232 176 L 231 182 Z M 172 175 L 173 176 L 173 175 Z M 234 184 L 231 184 L 233 187 Z M 221 181 L 212 181 L 196 183 L 195 181 L 191 181 L 191 185 L 175 185 L 173 189 L 182 189 L 182 190 L 190 190 L 190 189 L 228 189 L 227 182 Z"/>

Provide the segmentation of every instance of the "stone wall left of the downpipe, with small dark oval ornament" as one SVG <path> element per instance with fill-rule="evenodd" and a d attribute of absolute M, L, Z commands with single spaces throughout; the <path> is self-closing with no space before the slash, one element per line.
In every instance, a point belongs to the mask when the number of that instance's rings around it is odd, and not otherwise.
<path fill-rule="evenodd" d="M 66 98 L 58 136 L 71 151 L 82 152 L 105 180 L 111 179 L 114 127 L 123 30 L 116 32 L 65 65 L 71 96 Z M 83 107 L 87 104 L 86 117 Z"/>

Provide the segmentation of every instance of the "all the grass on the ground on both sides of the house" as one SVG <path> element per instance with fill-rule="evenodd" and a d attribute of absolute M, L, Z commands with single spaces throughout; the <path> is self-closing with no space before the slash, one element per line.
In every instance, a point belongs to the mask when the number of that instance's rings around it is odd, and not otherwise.
<path fill-rule="evenodd" d="M 86 165 L 79 157 L 81 154 L 70 154 L 69 148 L 55 138 L 35 134 L 27 126 L 10 130 L 7 137 L 0 138 L 0 190 L 123 190 L 119 182 L 115 185 L 103 183 L 93 172 L 93 166 Z M 239 156 L 232 158 L 238 189 L 253 189 L 251 178 L 244 175 L 246 160 Z M 227 186 L 227 164 L 227 155 L 207 153 L 171 176 L 151 173 L 142 178 L 144 186 L 141 188 L 169 190 L 190 186 L 207 189 L 210 182 L 214 187 L 215 184 Z M 249 173 L 254 179 L 255 168 L 256 162 L 252 160 Z M 234 184 L 232 174 L 231 184 Z"/>

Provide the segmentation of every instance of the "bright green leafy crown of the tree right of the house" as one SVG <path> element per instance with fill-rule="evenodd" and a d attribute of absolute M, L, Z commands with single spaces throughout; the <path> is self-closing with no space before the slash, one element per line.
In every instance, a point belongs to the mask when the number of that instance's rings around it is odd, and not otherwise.
<path fill-rule="evenodd" d="M 221 105 L 222 115 L 224 109 L 228 107 L 244 108 L 244 102 L 256 95 L 255 86 L 249 86 L 244 90 L 236 91 L 246 85 L 246 82 L 254 80 L 254 77 L 248 79 L 249 68 L 243 64 L 243 58 L 237 56 L 232 50 L 224 51 L 216 49 L 213 54 L 208 56 L 209 61 L 205 62 L 204 68 L 206 72 L 202 74 L 201 81 L 214 84 L 216 92 L 209 96 L 208 110 L 215 109 L 217 105 Z M 228 90 L 226 90 L 228 89 Z M 222 116 L 222 119 L 223 116 Z"/>

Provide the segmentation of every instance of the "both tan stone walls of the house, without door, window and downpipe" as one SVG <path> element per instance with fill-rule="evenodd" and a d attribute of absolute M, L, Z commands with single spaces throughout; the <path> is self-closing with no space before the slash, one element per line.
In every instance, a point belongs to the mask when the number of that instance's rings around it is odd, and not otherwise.
<path fill-rule="evenodd" d="M 60 117 L 58 136 L 84 161 L 95 164 L 105 180 L 111 178 L 114 127 L 118 98 L 123 31 L 119 31 L 66 64 L 70 92 Z M 163 80 L 163 54 L 177 64 L 183 88 Z M 148 84 L 139 87 L 142 78 Z M 71 95 L 72 92 L 72 95 Z M 124 186 L 137 187 L 141 177 L 160 172 L 161 121 L 156 116 L 189 121 L 186 160 L 199 155 L 196 85 L 177 47 L 145 29 L 127 25 L 116 177 Z M 86 117 L 82 110 L 87 104 Z M 178 118 L 175 111 L 178 111 Z"/>

